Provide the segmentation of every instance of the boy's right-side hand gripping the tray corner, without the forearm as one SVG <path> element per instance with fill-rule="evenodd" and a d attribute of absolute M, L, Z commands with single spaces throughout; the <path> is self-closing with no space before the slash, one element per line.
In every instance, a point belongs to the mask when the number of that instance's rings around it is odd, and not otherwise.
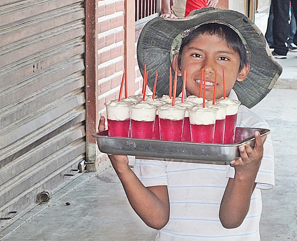
<path fill-rule="evenodd" d="M 259 131 L 254 132 L 256 146 L 254 149 L 248 144 L 238 147 L 240 157 L 230 162 L 235 168 L 236 175 L 257 175 L 263 157 L 263 144 L 267 135 L 260 136 Z"/>

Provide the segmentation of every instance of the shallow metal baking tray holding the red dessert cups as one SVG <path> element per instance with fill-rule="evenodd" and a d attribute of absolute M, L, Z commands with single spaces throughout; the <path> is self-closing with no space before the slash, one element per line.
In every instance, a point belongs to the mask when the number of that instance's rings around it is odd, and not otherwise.
<path fill-rule="evenodd" d="M 240 157 L 239 145 L 247 143 L 252 148 L 255 147 L 254 131 L 259 131 L 261 136 L 270 133 L 268 129 L 236 127 L 234 144 L 109 137 L 107 130 L 93 133 L 92 136 L 97 138 L 99 150 L 103 153 L 137 156 L 142 159 L 203 163 L 230 162 Z"/>

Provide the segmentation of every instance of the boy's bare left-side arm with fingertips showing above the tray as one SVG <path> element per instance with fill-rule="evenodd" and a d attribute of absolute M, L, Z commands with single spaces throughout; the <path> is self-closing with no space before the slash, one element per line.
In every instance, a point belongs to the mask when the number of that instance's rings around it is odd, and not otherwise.
<path fill-rule="evenodd" d="M 99 131 L 105 130 L 101 117 Z M 139 217 L 151 228 L 162 229 L 169 220 L 167 186 L 145 187 L 128 165 L 127 156 L 108 155 L 126 192 L 129 203 Z"/>

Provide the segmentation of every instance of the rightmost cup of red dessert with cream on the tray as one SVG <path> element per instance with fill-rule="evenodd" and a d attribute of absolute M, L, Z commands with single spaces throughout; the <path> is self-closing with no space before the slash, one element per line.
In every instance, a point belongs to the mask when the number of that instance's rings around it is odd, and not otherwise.
<path fill-rule="evenodd" d="M 225 132 L 224 132 L 224 144 L 233 144 L 235 137 L 236 121 L 238 107 L 241 102 L 237 100 L 230 99 L 229 97 L 224 99 L 220 98 L 218 100 L 219 104 L 228 104 L 226 109 L 226 122 L 225 122 Z"/>

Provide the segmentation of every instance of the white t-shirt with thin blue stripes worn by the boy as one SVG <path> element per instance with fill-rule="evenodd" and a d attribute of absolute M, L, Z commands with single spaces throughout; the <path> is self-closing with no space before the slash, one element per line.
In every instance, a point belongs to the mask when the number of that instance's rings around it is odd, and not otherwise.
<path fill-rule="evenodd" d="M 234 91 L 230 98 L 238 100 Z M 240 106 L 238 127 L 266 128 L 268 124 L 245 106 Z M 148 186 L 167 185 L 170 217 L 158 231 L 158 241 L 258 241 L 262 211 L 260 189 L 274 186 L 274 153 L 271 137 L 264 143 L 264 154 L 257 173 L 256 188 L 249 212 L 235 229 L 225 229 L 219 220 L 219 207 L 233 167 L 219 164 L 185 163 L 136 159 L 134 172 Z"/>

